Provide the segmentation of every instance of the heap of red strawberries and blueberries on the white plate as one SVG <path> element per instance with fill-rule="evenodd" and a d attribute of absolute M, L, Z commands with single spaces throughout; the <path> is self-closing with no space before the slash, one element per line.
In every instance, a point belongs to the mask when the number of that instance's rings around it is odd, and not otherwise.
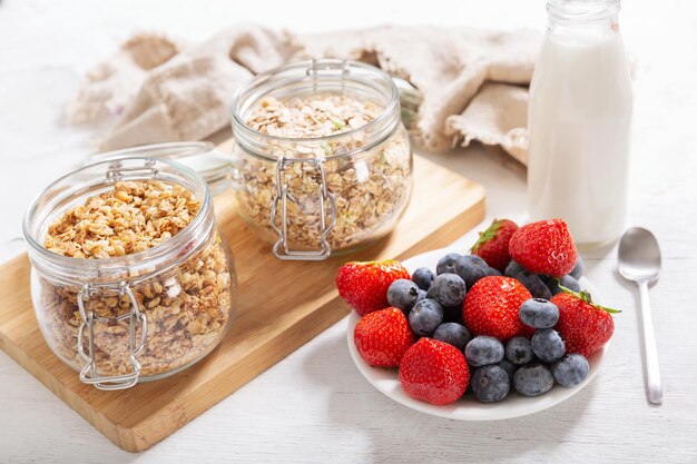
<path fill-rule="evenodd" d="M 566 223 L 494 220 L 470 255 L 450 253 L 412 275 L 395 260 L 347 263 L 341 297 L 362 316 L 366 363 L 399 367 L 404 392 L 443 405 L 470 392 L 495 403 L 516 391 L 573 387 L 612 336 L 613 309 L 581 290 L 583 265 Z"/>

